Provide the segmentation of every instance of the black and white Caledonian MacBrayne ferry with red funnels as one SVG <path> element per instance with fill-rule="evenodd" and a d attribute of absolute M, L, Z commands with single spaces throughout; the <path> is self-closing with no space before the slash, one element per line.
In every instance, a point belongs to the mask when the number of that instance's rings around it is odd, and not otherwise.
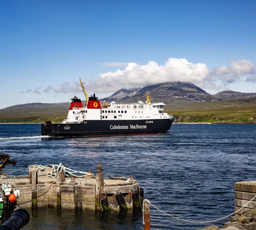
<path fill-rule="evenodd" d="M 76 96 L 72 98 L 68 116 L 62 123 L 41 124 L 43 136 L 143 135 L 164 134 L 170 130 L 174 116 L 163 112 L 164 103 L 151 103 L 148 92 L 145 103 L 108 104 L 100 102 L 95 94 L 88 97 L 81 79 L 80 82 L 86 103 Z"/>

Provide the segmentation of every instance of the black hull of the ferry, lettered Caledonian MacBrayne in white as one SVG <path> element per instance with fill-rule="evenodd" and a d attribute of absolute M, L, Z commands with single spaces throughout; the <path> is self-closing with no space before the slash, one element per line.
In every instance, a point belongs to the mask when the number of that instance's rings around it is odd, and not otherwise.
<path fill-rule="evenodd" d="M 41 124 L 43 136 L 116 136 L 164 134 L 173 119 L 148 120 L 87 120 L 80 124 Z"/>

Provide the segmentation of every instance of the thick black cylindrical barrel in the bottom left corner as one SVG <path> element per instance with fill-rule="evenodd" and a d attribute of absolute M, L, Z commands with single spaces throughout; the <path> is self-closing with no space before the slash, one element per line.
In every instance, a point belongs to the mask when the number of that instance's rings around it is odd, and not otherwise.
<path fill-rule="evenodd" d="M 15 210 L 12 216 L 0 226 L 0 230 L 20 230 L 28 224 L 29 213 L 22 208 Z"/>

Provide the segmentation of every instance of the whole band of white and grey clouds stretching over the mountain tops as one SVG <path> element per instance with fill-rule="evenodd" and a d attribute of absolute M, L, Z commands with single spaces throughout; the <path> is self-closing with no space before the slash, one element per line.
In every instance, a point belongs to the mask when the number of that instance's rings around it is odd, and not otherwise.
<path fill-rule="evenodd" d="M 190 82 L 201 88 L 219 90 L 223 85 L 244 80 L 256 81 L 255 66 L 249 60 L 232 61 L 228 66 L 218 66 L 209 70 L 204 63 L 192 63 L 185 58 L 169 58 L 163 65 L 149 61 L 145 65 L 134 62 L 105 62 L 104 65 L 121 67 L 114 72 L 100 73 L 95 81 L 86 82 L 90 92 L 115 92 L 121 88 L 142 88 L 166 82 Z M 78 81 L 64 82 L 57 86 L 48 85 L 42 92 L 70 93 L 81 92 Z M 40 93 L 39 88 L 34 93 Z"/>

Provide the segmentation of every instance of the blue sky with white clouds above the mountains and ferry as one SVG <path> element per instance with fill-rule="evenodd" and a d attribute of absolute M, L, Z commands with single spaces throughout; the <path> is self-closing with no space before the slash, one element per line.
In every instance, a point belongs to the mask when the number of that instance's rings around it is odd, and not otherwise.
<path fill-rule="evenodd" d="M 255 12 L 256 1 L 2 0 L 0 108 L 84 98 L 79 78 L 99 97 L 177 79 L 256 92 Z"/>

